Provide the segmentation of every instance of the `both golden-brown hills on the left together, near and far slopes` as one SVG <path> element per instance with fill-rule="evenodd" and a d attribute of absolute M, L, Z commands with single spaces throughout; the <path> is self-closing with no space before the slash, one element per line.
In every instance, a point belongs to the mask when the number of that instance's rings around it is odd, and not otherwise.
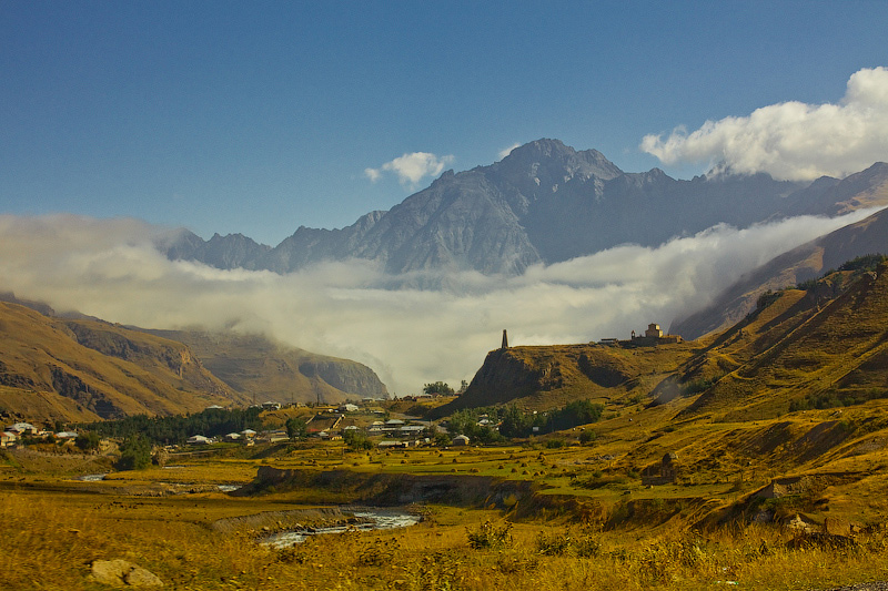
<path fill-rule="evenodd" d="M 145 330 L 0 295 L 0 416 L 90 422 L 387 397 L 369 367 L 261 336 Z"/>

